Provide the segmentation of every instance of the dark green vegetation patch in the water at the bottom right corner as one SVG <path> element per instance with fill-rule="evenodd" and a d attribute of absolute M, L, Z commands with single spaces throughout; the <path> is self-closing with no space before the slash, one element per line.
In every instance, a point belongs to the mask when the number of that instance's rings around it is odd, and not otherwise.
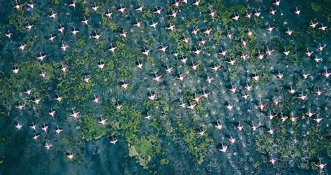
<path fill-rule="evenodd" d="M 302 158 L 304 156 L 309 156 L 310 159 L 318 159 L 319 156 L 325 151 L 331 150 L 331 144 L 328 140 L 328 137 L 331 137 L 329 129 L 326 129 L 323 133 L 324 137 L 317 139 L 317 135 L 321 134 L 320 130 L 316 123 L 312 123 L 309 127 L 307 133 L 307 138 L 300 138 L 299 132 L 302 130 L 300 125 L 295 125 L 295 131 L 290 134 L 287 132 L 287 125 L 293 125 L 290 123 L 286 123 L 286 125 L 273 125 L 274 129 L 277 130 L 276 134 L 256 134 L 255 136 L 255 147 L 256 151 L 260 153 L 267 153 L 268 155 L 272 155 L 277 153 L 279 155 L 279 159 L 284 162 L 288 162 L 293 158 Z M 291 137 L 293 139 L 287 139 Z M 295 138 L 295 139 L 294 139 Z M 328 155 L 331 158 L 331 155 Z M 304 162 L 300 164 L 300 168 L 310 169 L 309 165 L 306 165 Z"/>

